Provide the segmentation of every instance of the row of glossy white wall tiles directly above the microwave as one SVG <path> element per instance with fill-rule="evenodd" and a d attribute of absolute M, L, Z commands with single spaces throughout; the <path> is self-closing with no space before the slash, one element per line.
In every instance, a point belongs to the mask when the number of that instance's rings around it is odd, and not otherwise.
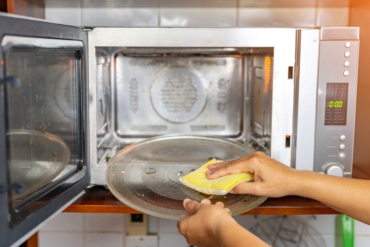
<path fill-rule="evenodd" d="M 48 7 L 49 21 L 77 26 L 348 26 L 347 7 Z"/>

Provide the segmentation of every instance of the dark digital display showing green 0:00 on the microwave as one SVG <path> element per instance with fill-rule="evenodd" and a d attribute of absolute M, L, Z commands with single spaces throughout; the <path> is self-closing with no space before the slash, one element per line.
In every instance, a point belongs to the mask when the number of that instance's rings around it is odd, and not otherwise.
<path fill-rule="evenodd" d="M 348 83 L 326 83 L 325 125 L 346 125 Z"/>

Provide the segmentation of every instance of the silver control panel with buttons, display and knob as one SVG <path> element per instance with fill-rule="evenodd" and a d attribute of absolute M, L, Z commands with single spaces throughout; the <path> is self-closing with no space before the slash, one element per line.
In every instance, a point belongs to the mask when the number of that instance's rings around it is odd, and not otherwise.
<path fill-rule="evenodd" d="M 321 40 L 314 171 L 351 177 L 358 40 Z"/>

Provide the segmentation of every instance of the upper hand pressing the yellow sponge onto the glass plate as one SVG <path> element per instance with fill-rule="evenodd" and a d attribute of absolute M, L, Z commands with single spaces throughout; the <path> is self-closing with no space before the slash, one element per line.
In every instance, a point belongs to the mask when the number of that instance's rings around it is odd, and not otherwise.
<path fill-rule="evenodd" d="M 254 173 L 254 182 L 240 183 L 230 193 L 281 197 L 297 194 L 304 171 L 299 171 L 262 152 L 255 152 L 233 161 L 211 164 L 208 179 L 241 172 Z"/>

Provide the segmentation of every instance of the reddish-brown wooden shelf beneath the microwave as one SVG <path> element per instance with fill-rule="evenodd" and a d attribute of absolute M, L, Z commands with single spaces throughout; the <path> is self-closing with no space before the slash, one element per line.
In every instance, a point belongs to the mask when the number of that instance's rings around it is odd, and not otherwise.
<path fill-rule="evenodd" d="M 87 188 L 86 193 L 67 207 L 63 212 L 69 213 L 141 213 L 118 201 L 113 194 L 102 186 Z M 338 211 L 319 201 L 299 196 L 268 198 L 260 206 L 244 214 L 340 214 Z"/>

